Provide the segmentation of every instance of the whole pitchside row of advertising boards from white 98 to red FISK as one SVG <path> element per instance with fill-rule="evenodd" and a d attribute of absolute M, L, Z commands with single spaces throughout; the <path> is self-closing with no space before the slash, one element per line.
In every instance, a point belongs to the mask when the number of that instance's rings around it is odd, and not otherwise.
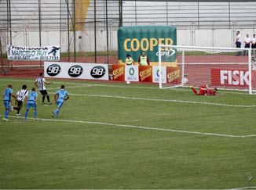
<path fill-rule="evenodd" d="M 159 83 L 159 66 L 126 66 L 116 64 L 112 65 L 111 74 L 108 72 L 108 69 L 108 64 L 101 63 L 45 62 L 44 64 L 45 77 L 108 81 L 111 75 L 113 81 Z M 179 67 L 162 66 L 161 71 L 163 83 L 181 84 L 181 70 Z M 250 73 L 248 70 L 211 68 L 207 76 L 210 79 L 210 84 L 214 86 L 247 87 L 250 83 Z M 194 77 L 189 75 L 188 81 L 195 81 L 196 78 Z"/>

